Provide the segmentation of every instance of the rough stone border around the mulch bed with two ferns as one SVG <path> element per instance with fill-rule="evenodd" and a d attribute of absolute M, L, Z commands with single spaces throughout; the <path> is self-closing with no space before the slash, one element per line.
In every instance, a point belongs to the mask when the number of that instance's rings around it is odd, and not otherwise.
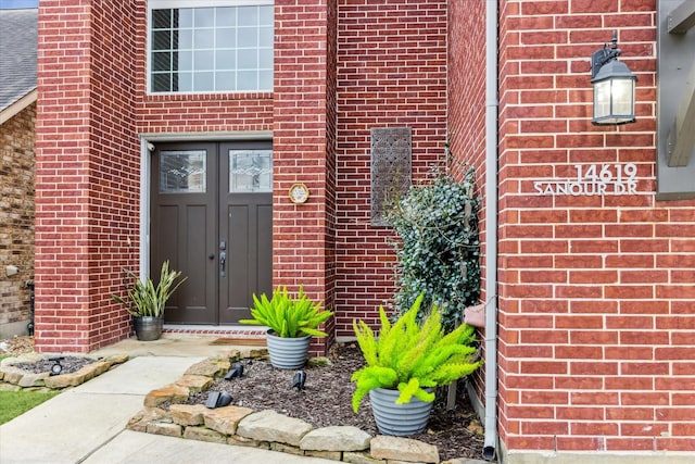
<path fill-rule="evenodd" d="M 176 404 L 190 393 L 208 388 L 241 359 L 267 358 L 266 349 L 244 356 L 233 351 L 229 358 L 208 358 L 190 366 L 176 383 L 150 391 L 143 409 L 128 422 L 134 431 L 216 443 L 262 448 L 283 453 L 323 457 L 353 464 L 440 463 L 435 446 L 402 437 L 372 437 L 353 426 L 314 428 L 311 424 L 271 410 L 203 404 Z M 312 362 L 312 360 L 309 360 Z M 160 405 L 173 403 L 165 411 Z M 456 464 L 466 460 L 451 460 Z"/>

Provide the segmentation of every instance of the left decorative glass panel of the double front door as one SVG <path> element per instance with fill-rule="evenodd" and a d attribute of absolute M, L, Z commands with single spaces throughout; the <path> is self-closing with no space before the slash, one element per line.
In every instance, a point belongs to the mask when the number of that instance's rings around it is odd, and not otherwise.
<path fill-rule="evenodd" d="M 160 153 L 160 193 L 204 193 L 205 150 Z"/>

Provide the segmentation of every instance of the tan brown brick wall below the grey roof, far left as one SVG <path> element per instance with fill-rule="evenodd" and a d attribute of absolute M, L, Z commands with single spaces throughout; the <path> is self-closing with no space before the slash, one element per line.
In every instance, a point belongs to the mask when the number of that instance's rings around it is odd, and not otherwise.
<path fill-rule="evenodd" d="M 35 126 L 36 103 L 0 124 L 0 338 L 26 334 L 9 324 L 29 319 L 26 283 L 34 279 Z M 7 277 L 8 265 L 17 266 L 17 274 Z"/>

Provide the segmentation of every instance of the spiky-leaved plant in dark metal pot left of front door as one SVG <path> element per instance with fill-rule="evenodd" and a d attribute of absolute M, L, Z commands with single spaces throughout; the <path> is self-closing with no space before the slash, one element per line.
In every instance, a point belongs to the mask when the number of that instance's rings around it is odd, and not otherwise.
<path fill-rule="evenodd" d="M 123 304 L 132 316 L 138 340 L 156 340 L 162 336 L 166 301 L 187 277 L 177 281 L 181 272 L 169 269 L 168 261 L 162 263 L 160 280 L 156 286 L 150 278 L 142 281 L 132 271 L 124 269 L 124 272 L 132 280 L 129 286 L 124 283 L 128 297 L 123 299 L 117 294 L 112 294 L 112 298 Z"/>

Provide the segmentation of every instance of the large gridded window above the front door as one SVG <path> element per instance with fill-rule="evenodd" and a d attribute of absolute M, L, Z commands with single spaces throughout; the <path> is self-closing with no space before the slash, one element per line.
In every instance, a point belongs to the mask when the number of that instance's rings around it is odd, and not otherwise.
<path fill-rule="evenodd" d="M 150 4 L 152 92 L 273 90 L 271 4 Z"/>

